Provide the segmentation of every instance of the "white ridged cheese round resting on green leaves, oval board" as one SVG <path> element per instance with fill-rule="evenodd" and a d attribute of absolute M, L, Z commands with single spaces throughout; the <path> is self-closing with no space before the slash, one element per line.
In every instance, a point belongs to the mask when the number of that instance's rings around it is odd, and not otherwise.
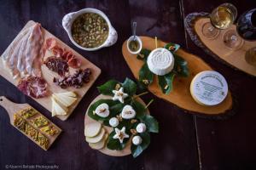
<path fill-rule="evenodd" d="M 172 71 L 174 57 L 166 48 L 156 48 L 148 55 L 147 63 L 150 71 L 163 76 Z"/>

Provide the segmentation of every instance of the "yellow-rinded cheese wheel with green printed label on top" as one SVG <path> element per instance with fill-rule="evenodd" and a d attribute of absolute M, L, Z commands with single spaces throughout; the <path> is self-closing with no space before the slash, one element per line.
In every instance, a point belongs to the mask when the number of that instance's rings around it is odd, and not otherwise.
<path fill-rule="evenodd" d="M 201 71 L 190 83 L 190 93 L 200 105 L 218 105 L 228 94 L 228 83 L 217 71 Z"/>

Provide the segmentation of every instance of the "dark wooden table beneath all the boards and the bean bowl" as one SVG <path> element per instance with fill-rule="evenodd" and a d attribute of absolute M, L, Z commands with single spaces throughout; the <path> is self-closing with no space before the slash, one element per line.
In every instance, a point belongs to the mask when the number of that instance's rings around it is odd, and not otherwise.
<path fill-rule="evenodd" d="M 29 103 L 60 126 L 64 133 L 49 151 L 41 150 L 9 124 L 0 108 L 0 169 L 14 165 L 56 165 L 59 169 L 255 169 L 256 168 L 256 81 L 241 71 L 218 62 L 197 48 L 184 31 L 183 18 L 191 12 L 209 12 L 222 0 L 176 1 L 0 1 L 0 53 L 15 38 L 28 20 L 38 21 L 48 31 L 66 42 L 102 69 L 102 75 L 67 122 L 52 118 L 49 111 L 21 94 L 0 77 L 0 95 L 17 103 Z M 253 0 L 235 0 L 238 14 L 255 8 Z M 119 33 L 116 44 L 96 52 L 84 52 L 69 41 L 61 26 L 62 17 L 81 8 L 99 8 L 106 13 Z M 177 42 L 204 59 L 226 77 L 238 105 L 236 115 L 226 120 L 192 116 L 161 99 L 150 105 L 151 114 L 160 122 L 160 133 L 153 134 L 150 147 L 142 156 L 111 157 L 91 150 L 84 142 L 84 113 L 96 97 L 96 86 L 116 78 L 132 77 L 122 57 L 121 47 L 131 36 L 131 22 L 137 21 L 139 35 L 157 36 Z M 0 70 L 1 71 L 1 70 Z M 154 98 L 148 94 L 143 99 Z M 38 167 L 39 169 L 39 167 Z"/>

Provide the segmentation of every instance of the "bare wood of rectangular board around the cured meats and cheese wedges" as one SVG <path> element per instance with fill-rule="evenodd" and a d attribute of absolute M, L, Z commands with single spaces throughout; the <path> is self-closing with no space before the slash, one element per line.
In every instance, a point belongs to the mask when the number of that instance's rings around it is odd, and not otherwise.
<path fill-rule="evenodd" d="M 26 28 L 28 28 L 30 26 L 33 26 L 34 24 L 35 24 L 34 21 L 32 21 L 32 20 L 28 21 L 26 26 L 24 26 L 24 28 L 20 31 L 20 33 L 17 35 L 17 37 L 15 37 L 15 40 L 9 45 L 9 47 L 5 50 L 5 52 L 3 52 L 3 54 L 7 53 L 8 49 L 10 47 L 12 47 L 12 45 L 20 39 L 20 35 L 22 34 L 22 31 L 24 31 Z M 53 82 L 53 78 L 58 77 L 58 75 L 53 71 L 49 71 L 49 69 L 45 65 L 42 65 L 41 69 L 42 69 L 43 77 L 49 85 L 48 86 L 49 95 L 47 97 L 44 97 L 44 98 L 41 98 L 41 99 L 34 99 L 35 101 L 38 102 L 38 104 L 44 106 L 45 109 L 47 109 L 49 112 L 51 112 L 51 108 L 52 108 L 51 99 L 50 99 L 51 93 L 61 93 L 61 92 L 73 91 L 76 94 L 78 94 L 77 102 L 74 105 L 72 105 L 71 107 L 69 107 L 67 115 L 66 116 L 57 116 L 62 121 L 66 121 L 68 116 L 71 115 L 73 110 L 79 104 L 79 101 L 84 97 L 84 94 L 87 93 L 89 88 L 96 81 L 96 78 L 99 77 L 99 75 L 101 74 L 101 70 L 96 65 L 92 64 L 88 59 L 85 59 L 82 55 L 78 54 L 72 48 L 68 47 L 64 42 L 61 42 L 60 39 L 58 39 L 57 37 L 55 37 L 54 35 L 49 33 L 49 31 L 46 31 L 43 27 L 42 27 L 42 31 L 43 31 L 43 34 L 44 34 L 44 41 L 49 37 L 54 37 L 57 40 L 57 42 L 61 45 L 62 48 L 67 48 L 68 50 L 71 50 L 72 53 L 78 59 L 80 59 L 82 61 L 82 64 L 81 64 L 82 69 L 90 68 L 90 70 L 92 72 L 91 75 L 90 75 L 90 82 L 84 83 L 84 86 L 82 88 L 62 89 L 59 86 L 56 86 L 55 83 Z M 46 59 L 47 57 L 49 57 L 51 55 L 52 54 L 50 54 L 49 51 L 47 51 L 45 56 L 44 56 L 44 59 Z M 3 65 L 3 59 L 0 59 L 0 70 L 1 70 L 0 75 L 2 77 L 7 79 L 9 82 L 13 83 L 15 86 L 18 84 L 18 81 L 13 79 L 9 70 Z M 70 70 L 71 74 L 74 72 L 74 70 L 72 68 L 69 68 L 69 70 Z"/>

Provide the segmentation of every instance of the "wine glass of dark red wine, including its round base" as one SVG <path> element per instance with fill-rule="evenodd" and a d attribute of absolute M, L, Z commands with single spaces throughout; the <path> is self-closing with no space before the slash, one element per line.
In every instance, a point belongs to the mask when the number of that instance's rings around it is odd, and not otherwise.
<path fill-rule="evenodd" d="M 243 39 L 256 40 L 256 8 L 241 14 L 236 23 L 236 30 L 224 34 L 224 43 L 228 48 L 237 49 L 243 45 Z"/>

